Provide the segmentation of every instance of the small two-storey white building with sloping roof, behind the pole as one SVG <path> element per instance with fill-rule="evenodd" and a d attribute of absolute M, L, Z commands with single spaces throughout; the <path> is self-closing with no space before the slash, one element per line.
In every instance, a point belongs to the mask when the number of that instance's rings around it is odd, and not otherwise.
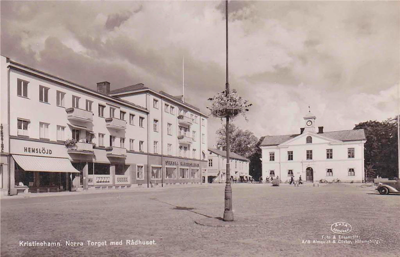
<path fill-rule="evenodd" d="M 208 183 L 225 183 L 226 181 L 226 151 L 208 148 Z M 229 153 L 230 178 L 232 180 L 247 181 L 250 161 L 243 156 Z"/>

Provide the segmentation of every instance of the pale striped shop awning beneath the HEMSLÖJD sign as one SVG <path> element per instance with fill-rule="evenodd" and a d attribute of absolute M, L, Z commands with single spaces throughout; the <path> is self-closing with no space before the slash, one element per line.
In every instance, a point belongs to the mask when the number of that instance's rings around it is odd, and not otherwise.
<path fill-rule="evenodd" d="M 80 173 L 67 158 L 52 158 L 28 155 L 12 155 L 15 162 L 25 171 Z"/>

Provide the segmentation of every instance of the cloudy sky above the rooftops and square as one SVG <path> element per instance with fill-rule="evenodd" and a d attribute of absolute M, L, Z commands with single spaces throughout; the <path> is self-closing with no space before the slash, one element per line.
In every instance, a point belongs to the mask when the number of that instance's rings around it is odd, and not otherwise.
<path fill-rule="evenodd" d="M 1 55 L 95 89 L 143 83 L 206 112 L 224 89 L 224 2 L 1 1 Z M 229 80 L 253 104 L 256 136 L 325 131 L 396 114 L 400 6 L 393 2 L 229 2 Z M 210 135 L 221 126 L 209 119 Z M 209 137 L 214 144 L 215 137 Z"/>

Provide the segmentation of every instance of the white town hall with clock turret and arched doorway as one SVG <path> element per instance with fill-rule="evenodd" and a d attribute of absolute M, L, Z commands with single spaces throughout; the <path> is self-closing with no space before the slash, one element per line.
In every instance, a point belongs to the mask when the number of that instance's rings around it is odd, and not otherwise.
<path fill-rule="evenodd" d="M 263 138 L 262 178 L 279 176 L 285 182 L 301 175 L 304 181 L 363 182 L 364 130 L 315 131 L 316 117 L 308 112 L 303 119 L 300 134 Z"/>

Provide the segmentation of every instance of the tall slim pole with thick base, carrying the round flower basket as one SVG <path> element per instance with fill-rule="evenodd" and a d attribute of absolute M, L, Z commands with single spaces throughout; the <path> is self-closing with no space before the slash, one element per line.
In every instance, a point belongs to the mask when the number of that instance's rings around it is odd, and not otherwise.
<path fill-rule="evenodd" d="M 226 83 L 225 95 L 229 95 L 228 81 L 228 1 L 225 0 L 226 20 Z M 224 221 L 233 221 L 232 211 L 232 187 L 230 186 L 230 159 L 229 159 L 229 116 L 226 115 L 226 184 L 225 184 L 225 210 L 223 211 Z"/>

